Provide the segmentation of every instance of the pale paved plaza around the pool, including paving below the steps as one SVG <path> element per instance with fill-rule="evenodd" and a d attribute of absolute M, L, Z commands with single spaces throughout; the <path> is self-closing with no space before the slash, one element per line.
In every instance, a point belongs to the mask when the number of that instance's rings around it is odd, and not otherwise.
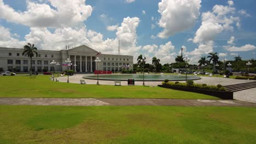
<path fill-rule="evenodd" d="M 76 74 L 73 76 L 69 76 L 69 82 L 71 83 L 80 83 L 80 80 L 83 79 L 84 75 L 94 75 L 94 74 Z M 60 82 L 67 82 L 67 76 L 65 77 L 59 77 L 58 78 Z M 97 80 L 85 80 L 87 84 L 89 85 L 96 85 Z M 200 80 L 195 80 L 195 83 L 206 83 L 207 85 L 235 85 L 238 83 L 246 83 L 246 82 L 252 82 L 253 80 L 236 80 L 236 79 L 227 79 L 222 77 L 210 77 L 210 76 L 201 76 Z M 100 80 L 100 85 L 114 85 L 114 81 L 103 81 Z M 181 81 L 184 82 L 184 81 Z M 161 81 L 145 81 L 146 86 L 158 86 L 161 85 Z M 122 86 L 127 86 L 127 81 L 121 81 Z M 136 86 L 142 86 L 142 81 L 136 81 Z M 246 89 L 243 91 L 234 92 L 234 99 L 241 100 L 241 101 L 247 101 L 250 103 L 256 103 L 256 88 Z"/>

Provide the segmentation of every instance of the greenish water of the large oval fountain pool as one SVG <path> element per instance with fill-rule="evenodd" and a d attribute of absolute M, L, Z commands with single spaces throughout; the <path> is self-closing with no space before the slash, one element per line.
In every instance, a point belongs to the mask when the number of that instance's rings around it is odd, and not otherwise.
<path fill-rule="evenodd" d="M 85 75 L 84 79 L 97 80 L 97 75 Z M 134 79 L 135 81 L 143 81 L 142 74 L 112 74 L 112 75 L 98 75 L 98 80 L 107 80 L 107 81 L 127 81 L 128 79 Z M 185 75 L 159 75 L 159 74 L 144 74 L 144 81 L 185 81 Z M 187 80 L 199 80 L 199 76 L 187 76 Z"/>

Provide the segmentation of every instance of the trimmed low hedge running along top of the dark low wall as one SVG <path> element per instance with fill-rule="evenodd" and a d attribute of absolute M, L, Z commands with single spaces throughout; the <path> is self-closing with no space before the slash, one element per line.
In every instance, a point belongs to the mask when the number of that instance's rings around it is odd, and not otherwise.
<path fill-rule="evenodd" d="M 190 83 L 191 84 L 191 83 Z M 188 88 L 197 88 L 197 89 L 206 89 L 206 90 L 210 90 L 210 91 L 223 91 L 225 92 L 226 89 L 224 87 L 220 87 L 220 85 L 218 86 L 207 86 L 206 84 L 199 84 L 199 83 L 193 83 L 192 85 L 189 85 L 188 83 L 184 83 L 184 82 L 162 82 L 162 85 L 166 85 L 166 86 L 174 86 L 174 87 L 188 87 Z"/>

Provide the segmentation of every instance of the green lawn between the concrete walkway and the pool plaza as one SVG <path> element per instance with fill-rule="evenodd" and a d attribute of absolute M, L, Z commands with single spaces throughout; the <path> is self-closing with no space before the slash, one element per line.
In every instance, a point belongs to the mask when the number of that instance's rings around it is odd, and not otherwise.
<path fill-rule="evenodd" d="M 160 87 L 80 85 L 54 82 L 49 76 L 0 76 L 0 97 L 218 99 Z"/>

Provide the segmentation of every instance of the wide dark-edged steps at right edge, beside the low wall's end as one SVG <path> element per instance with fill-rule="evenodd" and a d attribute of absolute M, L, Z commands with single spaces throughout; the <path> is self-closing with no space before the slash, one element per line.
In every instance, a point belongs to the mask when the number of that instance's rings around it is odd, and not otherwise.
<path fill-rule="evenodd" d="M 239 84 L 236 84 L 236 85 L 229 85 L 229 86 L 224 86 L 224 87 L 226 88 L 226 91 L 237 92 L 237 91 L 242 91 L 242 90 L 245 90 L 245 89 L 256 87 L 256 81 L 246 82 L 246 83 L 239 83 Z"/>

